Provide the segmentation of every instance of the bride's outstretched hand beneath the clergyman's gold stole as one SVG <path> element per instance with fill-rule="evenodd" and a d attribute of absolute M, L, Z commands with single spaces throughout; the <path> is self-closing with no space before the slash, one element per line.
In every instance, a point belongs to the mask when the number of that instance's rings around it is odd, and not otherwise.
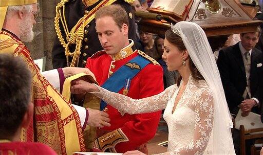
<path fill-rule="evenodd" d="M 71 81 L 70 92 L 72 94 L 84 94 L 86 92 L 87 93 L 99 92 L 99 89 L 94 84 L 91 84 L 82 79 L 77 79 L 77 80 Z"/>

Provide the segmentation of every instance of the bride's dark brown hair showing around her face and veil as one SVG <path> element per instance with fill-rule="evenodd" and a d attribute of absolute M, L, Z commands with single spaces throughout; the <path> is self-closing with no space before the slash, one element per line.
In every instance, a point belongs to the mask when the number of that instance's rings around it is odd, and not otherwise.
<path fill-rule="evenodd" d="M 169 41 L 170 43 L 172 43 L 173 45 L 175 45 L 180 51 L 184 51 L 186 50 L 184 44 L 183 44 L 183 40 L 182 38 L 175 34 L 171 29 L 167 30 L 165 32 L 165 39 L 167 41 Z M 201 73 L 197 70 L 194 62 L 192 61 L 192 59 L 189 57 L 189 68 L 190 71 L 192 73 L 192 76 L 194 79 L 196 80 L 204 80 L 203 76 L 201 75 Z M 177 85 L 179 86 L 180 82 L 181 82 L 182 77 L 180 76 L 177 80 Z"/>

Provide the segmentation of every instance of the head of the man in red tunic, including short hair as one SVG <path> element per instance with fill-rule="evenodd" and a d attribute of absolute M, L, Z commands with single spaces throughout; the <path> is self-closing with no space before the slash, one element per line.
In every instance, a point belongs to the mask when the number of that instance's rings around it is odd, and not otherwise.
<path fill-rule="evenodd" d="M 127 45 L 129 19 L 119 5 L 110 5 L 96 12 L 96 30 L 101 46 L 109 55 L 115 55 Z"/>

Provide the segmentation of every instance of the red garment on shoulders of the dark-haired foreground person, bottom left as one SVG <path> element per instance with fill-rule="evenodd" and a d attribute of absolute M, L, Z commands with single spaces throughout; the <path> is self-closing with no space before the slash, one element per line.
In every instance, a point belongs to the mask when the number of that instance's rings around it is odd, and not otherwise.
<path fill-rule="evenodd" d="M 16 155 L 16 154 L 57 154 L 54 150 L 42 143 L 33 142 L 10 142 L 8 140 L 0 140 L 0 155 Z"/>

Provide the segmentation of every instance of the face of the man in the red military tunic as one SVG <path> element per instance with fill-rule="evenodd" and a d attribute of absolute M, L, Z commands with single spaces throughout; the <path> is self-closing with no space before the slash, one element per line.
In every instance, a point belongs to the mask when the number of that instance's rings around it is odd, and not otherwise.
<path fill-rule="evenodd" d="M 109 55 L 119 53 L 128 42 L 128 26 L 123 24 L 120 29 L 110 16 L 97 19 L 96 30 L 101 46 Z"/>

